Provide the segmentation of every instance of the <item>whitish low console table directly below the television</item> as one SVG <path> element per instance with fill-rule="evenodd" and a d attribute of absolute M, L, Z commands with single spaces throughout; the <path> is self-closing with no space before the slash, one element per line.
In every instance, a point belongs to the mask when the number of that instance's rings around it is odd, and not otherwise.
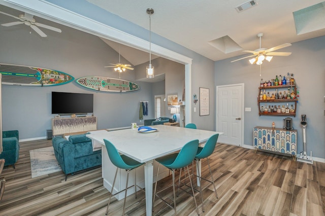
<path fill-rule="evenodd" d="M 52 119 L 53 135 L 97 130 L 97 117 Z"/>

